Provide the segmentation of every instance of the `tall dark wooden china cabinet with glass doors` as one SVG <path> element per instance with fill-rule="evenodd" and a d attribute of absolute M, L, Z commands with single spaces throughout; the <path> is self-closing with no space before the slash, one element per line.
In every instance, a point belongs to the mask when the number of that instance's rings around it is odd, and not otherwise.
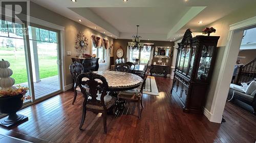
<path fill-rule="evenodd" d="M 219 36 L 192 37 L 188 29 L 178 43 L 170 93 L 177 96 L 187 113 L 202 113 L 216 59 Z"/>

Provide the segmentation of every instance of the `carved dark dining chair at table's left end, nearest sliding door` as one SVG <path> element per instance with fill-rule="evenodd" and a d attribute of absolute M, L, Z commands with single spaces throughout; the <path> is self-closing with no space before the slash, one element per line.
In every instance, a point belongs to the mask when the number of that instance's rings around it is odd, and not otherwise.
<path fill-rule="evenodd" d="M 78 84 L 77 84 L 77 76 L 79 74 L 83 73 L 83 66 L 82 66 L 82 64 L 75 61 L 74 63 L 70 64 L 69 70 L 70 70 L 70 73 L 71 73 L 72 78 L 74 80 L 74 86 L 73 86 L 74 98 L 73 98 L 73 101 L 72 101 L 72 105 L 74 105 L 74 102 L 76 101 L 77 91 L 81 91 Z"/>

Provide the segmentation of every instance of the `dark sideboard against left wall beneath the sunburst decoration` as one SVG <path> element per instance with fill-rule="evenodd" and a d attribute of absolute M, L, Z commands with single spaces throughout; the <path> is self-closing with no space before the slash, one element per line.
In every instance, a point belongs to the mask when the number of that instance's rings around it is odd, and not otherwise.
<path fill-rule="evenodd" d="M 99 58 L 72 58 L 72 62 L 81 63 L 84 72 L 98 71 Z"/>

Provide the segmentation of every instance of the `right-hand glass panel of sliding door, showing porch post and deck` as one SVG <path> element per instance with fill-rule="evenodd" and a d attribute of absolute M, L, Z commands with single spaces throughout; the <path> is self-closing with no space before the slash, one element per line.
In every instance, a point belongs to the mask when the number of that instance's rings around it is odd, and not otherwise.
<path fill-rule="evenodd" d="M 58 32 L 29 26 L 35 99 L 60 90 Z"/>

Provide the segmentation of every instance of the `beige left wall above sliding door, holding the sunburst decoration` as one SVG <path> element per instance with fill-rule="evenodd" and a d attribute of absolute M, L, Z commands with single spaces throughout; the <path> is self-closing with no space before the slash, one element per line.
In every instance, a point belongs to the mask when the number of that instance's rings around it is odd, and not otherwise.
<path fill-rule="evenodd" d="M 97 31 L 92 30 L 91 28 L 84 26 L 80 23 L 77 23 L 71 19 L 68 19 L 64 16 L 61 16 L 53 11 L 50 11 L 44 7 L 41 7 L 35 3 L 30 3 L 30 16 L 48 21 L 60 26 L 65 27 L 65 79 L 64 79 L 64 84 L 69 85 L 73 82 L 71 78 L 71 74 L 69 72 L 69 65 L 72 63 L 71 58 L 75 57 L 76 55 L 79 55 L 77 51 L 74 48 L 75 44 L 75 36 L 76 34 L 81 31 L 83 32 L 86 37 L 89 39 L 89 48 L 86 50 L 86 53 L 91 53 L 91 48 L 92 48 L 92 43 L 91 43 L 91 35 L 94 34 L 96 36 L 100 36 L 104 39 L 107 39 L 109 41 L 109 46 L 113 44 L 113 39 L 105 36 Z M 61 49 L 64 50 L 64 49 Z M 109 50 L 109 49 L 108 49 Z M 68 56 L 66 55 L 66 51 L 71 51 L 72 55 Z M 107 51 L 107 58 L 106 58 L 106 69 L 110 69 L 110 56 L 108 54 L 109 51 Z"/>

